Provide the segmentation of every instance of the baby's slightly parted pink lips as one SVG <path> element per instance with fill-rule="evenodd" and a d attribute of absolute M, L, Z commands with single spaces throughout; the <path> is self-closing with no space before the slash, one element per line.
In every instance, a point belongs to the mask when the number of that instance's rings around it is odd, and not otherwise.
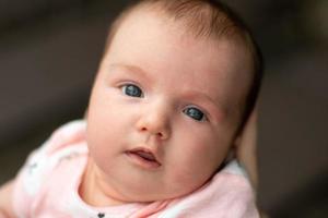
<path fill-rule="evenodd" d="M 144 169 L 156 169 L 162 166 L 156 154 L 145 147 L 136 147 L 125 153 L 129 160 Z"/>

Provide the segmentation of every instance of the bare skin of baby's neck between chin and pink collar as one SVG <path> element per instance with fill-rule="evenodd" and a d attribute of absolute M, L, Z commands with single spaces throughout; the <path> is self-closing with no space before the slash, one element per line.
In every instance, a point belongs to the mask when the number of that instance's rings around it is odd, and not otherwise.
<path fill-rule="evenodd" d="M 79 187 L 81 198 L 91 206 L 106 207 L 127 204 L 127 202 L 110 196 L 110 185 L 101 175 L 94 161 L 89 158 Z"/>

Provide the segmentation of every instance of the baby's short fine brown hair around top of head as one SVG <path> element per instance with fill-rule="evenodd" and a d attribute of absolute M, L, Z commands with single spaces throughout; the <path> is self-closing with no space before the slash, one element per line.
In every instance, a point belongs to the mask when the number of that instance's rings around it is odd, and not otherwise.
<path fill-rule="evenodd" d="M 245 23 L 226 4 L 214 0 L 141 0 L 133 1 L 113 22 L 105 47 L 105 53 L 125 19 L 137 9 L 151 9 L 181 22 L 195 37 L 226 39 L 245 46 L 253 60 L 253 80 L 246 96 L 246 105 L 236 134 L 243 129 L 255 107 L 262 77 L 261 52 Z M 247 72 L 247 71 L 246 71 Z"/>

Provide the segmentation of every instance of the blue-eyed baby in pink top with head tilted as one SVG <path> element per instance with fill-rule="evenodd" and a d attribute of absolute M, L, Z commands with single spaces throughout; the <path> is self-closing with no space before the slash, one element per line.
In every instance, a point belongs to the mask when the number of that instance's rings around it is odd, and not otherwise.
<path fill-rule="evenodd" d="M 144 0 L 114 22 L 86 121 L 57 130 L 1 190 L 3 217 L 258 217 L 229 154 L 260 56 L 207 0 Z"/>

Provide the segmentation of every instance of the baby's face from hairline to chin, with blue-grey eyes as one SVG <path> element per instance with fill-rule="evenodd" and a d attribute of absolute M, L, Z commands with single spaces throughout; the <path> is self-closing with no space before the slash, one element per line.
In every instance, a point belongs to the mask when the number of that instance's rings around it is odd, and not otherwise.
<path fill-rule="evenodd" d="M 190 193 L 225 159 L 249 82 L 226 40 L 195 38 L 155 13 L 130 15 L 97 74 L 87 143 L 113 197 Z"/>

